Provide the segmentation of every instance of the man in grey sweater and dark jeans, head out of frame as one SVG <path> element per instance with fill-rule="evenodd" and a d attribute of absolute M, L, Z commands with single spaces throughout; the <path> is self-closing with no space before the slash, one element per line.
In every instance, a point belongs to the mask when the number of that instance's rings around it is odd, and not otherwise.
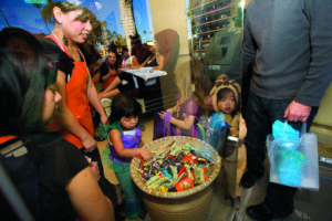
<path fill-rule="evenodd" d="M 248 171 L 250 188 L 264 173 L 266 137 L 279 119 L 307 129 L 332 80 L 332 1 L 251 0 L 246 11 L 242 70 L 253 60 L 247 104 Z M 264 201 L 247 209 L 249 217 L 271 220 L 293 211 L 297 189 L 270 182 Z"/>

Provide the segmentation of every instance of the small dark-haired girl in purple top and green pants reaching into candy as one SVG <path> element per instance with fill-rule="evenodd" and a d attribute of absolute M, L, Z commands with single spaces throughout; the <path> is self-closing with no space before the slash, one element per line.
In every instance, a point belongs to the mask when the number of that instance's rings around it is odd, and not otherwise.
<path fill-rule="evenodd" d="M 133 97 L 118 94 L 112 101 L 110 116 L 111 130 L 108 133 L 110 159 L 118 179 L 120 186 L 125 194 L 125 203 L 139 204 L 138 189 L 132 180 L 129 164 L 133 157 L 141 156 L 149 160 L 151 155 L 143 146 L 142 134 L 138 128 L 138 116 L 142 107 Z M 126 214 L 137 218 L 136 214 Z"/>

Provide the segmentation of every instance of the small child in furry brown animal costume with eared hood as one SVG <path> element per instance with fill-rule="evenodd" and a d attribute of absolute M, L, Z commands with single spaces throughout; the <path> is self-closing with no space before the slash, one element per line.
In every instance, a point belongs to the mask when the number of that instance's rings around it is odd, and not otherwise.
<path fill-rule="evenodd" d="M 210 92 L 214 110 L 224 113 L 225 120 L 230 126 L 230 135 L 239 137 L 237 151 L 232 151 L 229 156 L 222 156 L 221 168 L 226 177 L 228 194 L 234 199 L 236 209 L 240 207 L 240 178 L 246 169 L 247 160 L 246 147 L 243 145 L 247 127 L 239 112 L 239 93 L 240 86 L 227 77 L 218 80 Z M 235 161 L 237 161 L 236 166 L 234 164 Z"/>

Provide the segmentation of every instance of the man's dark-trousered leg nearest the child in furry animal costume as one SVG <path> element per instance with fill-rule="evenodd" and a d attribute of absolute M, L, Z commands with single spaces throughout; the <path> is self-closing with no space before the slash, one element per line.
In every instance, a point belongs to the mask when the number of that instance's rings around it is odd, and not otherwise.
<path fill-rule="evenodd" d="M 269 134 L 263 99 L 252 92 L 250 92 L 248 98 L 246 124 L 247 171 L 241 179 L 241 185 L 245 188 L 250 188 L 264 173 L 266 137 Z"/>

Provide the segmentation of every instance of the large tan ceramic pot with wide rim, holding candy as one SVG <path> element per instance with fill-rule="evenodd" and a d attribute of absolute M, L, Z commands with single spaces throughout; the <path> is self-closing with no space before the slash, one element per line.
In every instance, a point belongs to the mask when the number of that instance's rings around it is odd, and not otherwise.
<path fill-rule="evenodd" d="M 144 148 L 151 152 L 156 152 L 160 146 L 172 143 L 173 140 L 181 144 L 190 144 L 196 149 L 203 151 L 209 156 L 214 161 L 211 172 L 208 176 L 208 180 L 194 189 L 180 191 L 180 192 L 159 192 L 147 188 L 136 168 L 139 167 L 139 159 L 134 158 L 131 164 L 131 175 L 134 182 L 142 190 L 143 201 L 147 209 L 147 212 L 154 221 L 203 221 L 205 220 L 212 198 L 211 183 L 219 173 L 221 159 L 218 152 L 207 143 L 185 136 L 165 137 L 154 140 Z"/>

